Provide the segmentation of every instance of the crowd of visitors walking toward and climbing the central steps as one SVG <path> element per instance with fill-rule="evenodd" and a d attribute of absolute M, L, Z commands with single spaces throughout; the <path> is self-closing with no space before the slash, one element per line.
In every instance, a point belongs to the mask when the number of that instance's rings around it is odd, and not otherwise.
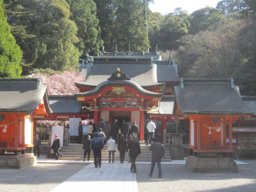
<path fill-rule="evenodd" d="M 147 129 L 146 145 L 150 144 L 149 150 L 152 151 L 151 168 L 148 176 L 152 177 L 154 167 L 157 164 L 158 178 L 162 178 L 161 160 L 164 157 L 164 148 L 154 137 L 156 125 L 152 120 L 149 121 Z M 130 125 L 129 122 L 127 123 L 126 120 L 123 120 L 120 126 L 117 124 L 117 120 L 114 120 L 112 125 L 108 121 L 104 123 L 103 119 L 100 119 L 97 126 L 89 122 L 87 138 L 83 142 L 84 161 L 86 161 L 86 155 L 87 161 L 90 161 L 90 151 L 92 150 L 94 154 L 94 166 L 95 168 L 101 168 L 101 150 L 104 148 L 104 144 L 106 144 L 108 148 L 108 162 L 114 163 L 117 145 L 120 163 L 124 163 L 125 154 L 128 153 L 129 162 L 131 163 L 130 170 L 132 173 L 137 173 L 136 158 L 141 154 L 140 142 L 137 137 L 138 132 L 139 127 L 135 121 Z"/>

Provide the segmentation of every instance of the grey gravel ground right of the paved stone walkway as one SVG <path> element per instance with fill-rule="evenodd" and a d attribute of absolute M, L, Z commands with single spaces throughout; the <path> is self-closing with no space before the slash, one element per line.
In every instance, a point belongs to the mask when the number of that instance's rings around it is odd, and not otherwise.
<path fill-rule="evenodd" d="M 238 173 L 192 172 L 185 165 L 162 165 L 149 177 L 150 165 L 136 165 L 138 192 L 256 192 L 256 160 L 240 160 L 251 165 L 238 165 Z"/>

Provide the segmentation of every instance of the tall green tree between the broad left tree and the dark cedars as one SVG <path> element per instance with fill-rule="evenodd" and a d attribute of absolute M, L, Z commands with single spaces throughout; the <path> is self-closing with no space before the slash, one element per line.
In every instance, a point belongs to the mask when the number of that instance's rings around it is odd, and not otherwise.
<path fill-rule="evenodd" d="M 86 54 L 96 56 L 99 53 L 100 46 L 103 42 L 100 38 L 99 20 L 96 18 L 96 4 L 93 0 L 68 0 L 70 19 L 74 20 L 78 28 L 77 36 L 79 43 L 77 46 L 82 52 L 82 58 Z"/>

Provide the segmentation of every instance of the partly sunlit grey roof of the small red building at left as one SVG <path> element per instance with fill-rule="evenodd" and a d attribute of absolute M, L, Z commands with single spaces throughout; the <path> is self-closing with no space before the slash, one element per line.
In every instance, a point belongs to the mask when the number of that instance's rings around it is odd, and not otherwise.
<path fill-rule="evenodd" d="M 40 102 L 48 113 L 46 85 L 41 78 L 0 78 L 0 112 L 33 112 Z"/>

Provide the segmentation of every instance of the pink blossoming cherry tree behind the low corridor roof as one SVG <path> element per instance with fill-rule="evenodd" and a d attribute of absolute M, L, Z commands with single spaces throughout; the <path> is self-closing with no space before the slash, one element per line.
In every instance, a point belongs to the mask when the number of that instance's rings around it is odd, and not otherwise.
<path fill-rule="evenodd" d="M 49 95 L 73 95 L 80 93 L 74 82 L 83 82 L 81 74 L 77 72 L 64 71 L 60 74 L 46 76 L 46 74 L 31 74 L 28 78 L 42 78 L 42 82 L 47 86 Z"/>

